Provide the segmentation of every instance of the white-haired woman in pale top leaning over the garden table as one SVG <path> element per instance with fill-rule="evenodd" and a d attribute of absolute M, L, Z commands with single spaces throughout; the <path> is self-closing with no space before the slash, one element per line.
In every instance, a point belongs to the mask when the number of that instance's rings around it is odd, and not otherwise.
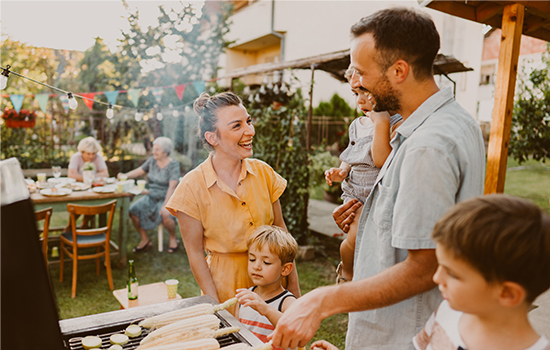
<path fill-rule="evenodd" d="M 87 137 L 78 143 L 78 152 L 71 156 L 67 176 L 82 182 L 82 168 L 84 163 L 90 162 L 96 166 L 96 177 L 109 177 L 107 164 L 103 157 L 98 153 L 101 150 L 100 144 L 94 137 Z"/>

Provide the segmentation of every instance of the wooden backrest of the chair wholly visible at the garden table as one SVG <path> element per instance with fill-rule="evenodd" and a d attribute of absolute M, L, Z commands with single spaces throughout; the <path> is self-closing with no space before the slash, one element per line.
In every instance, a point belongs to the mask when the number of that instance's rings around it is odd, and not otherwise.
<path fill-rule="evenodd" d="M 111 225 L 113 224 L 113 217 L 115 214 L 115 207 L 117 200 L 109 201 L 103 205 L 77 205 L 77 204 L 67 204 L 67 211 L 70 215 L 71 220 L 71 231 L 73 233 L 73 243 L 77 242 L 77 235 L 96 235 L 105 233 L 106 240 L 109 241 L 111 236 Z M 109 218 L 107 219 L 107 225 L 99 228 L 93 229 L 79 229 L 77 227 L 77 217 L 79 215 L 98 215 L 109 212 Z"/>

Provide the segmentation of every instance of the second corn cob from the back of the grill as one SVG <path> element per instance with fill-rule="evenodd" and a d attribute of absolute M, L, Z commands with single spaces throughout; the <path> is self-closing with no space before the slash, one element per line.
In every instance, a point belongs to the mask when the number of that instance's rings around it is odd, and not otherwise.
<path fill-rule="evenodd" d="M 220 320 L 213 314 L 187 318 L 152 331 L 140 341 L 140 345 L 145 345 L 159 338 L 167 338 L 174 334 L 191 336 L 198 333 L 201 329 L 217 330 L 218 328 L 220 328 Z"/>

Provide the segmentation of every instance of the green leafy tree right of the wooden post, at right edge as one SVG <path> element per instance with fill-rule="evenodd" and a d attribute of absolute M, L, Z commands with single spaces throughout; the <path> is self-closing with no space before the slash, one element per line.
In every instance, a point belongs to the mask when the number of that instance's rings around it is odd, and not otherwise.
<path fill-rule="evenodd" d="M 520 77 L 513 110 L 509 155 L 519 164 L 529 158 L 549 158 L 549 45 L 542 54 L 544 67 Z"/>

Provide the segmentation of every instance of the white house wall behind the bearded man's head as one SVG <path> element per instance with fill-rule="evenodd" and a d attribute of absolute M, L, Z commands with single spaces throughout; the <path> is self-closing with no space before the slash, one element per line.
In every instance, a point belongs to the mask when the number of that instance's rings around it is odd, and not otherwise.
<path fill-rule="evenodd" d="M 334 51 L 345 50 L 350 47 L 350 27 L 359 19 L 380 9 L 392 6 L 410 6 L 421 9 L 431 15 L 441 36 L 441 53 L 453 55 L 467 67 L 474 68 L 474 72 L 451 74 L 450 78 L 456 82 L 457 101 L 471 115 L 476 116 L 480 61 L 482 55 L 483 32 L 482 25 L 460 18 L 421 8 L 415 0 L 404 1 L 282 1 L 275 0 L 274 24 L 275 32 L 283 34 L 283 60 L 295 60 Z M 271 27 L 271 0 L 250 2 L 234 15 L 230 20 L 228 39 L 235 40 L 233 47 L 251 42 L 270 32 Z M 223 56 L 220 66 L 224 67 L 219 76 L 240 66 L 241 63 L 258 61 L 258 55 L 244 54 L 249 58 L 228 53 Z M 253 57 L 256 58 L 253 59 Z M 239 61 L 239 62 L 237 62 Z M 310 70 L 294 70 L 293 74 L 299 79 L 304 93 L 310 90 Z M 289 72 L 285 73 L 289 81 Z M 445 77 L 436 77 L 437 83 L 444 86 L 453 84 Z M 258 78 L 259 79 L 259 78 Z M 257 79 L 257 81 L 258 81 Z M 261 80 L 260 80 L 261 81 Z M 222 82 L 221 82 L 222 83 Z M 229 82 L 223 82 L 229 84 Z M 316 71 L 314 78 L 314 106 L 320 101 L 327 101 L 334 93 L 345 98 L 350 106 L 354 106 L 354 99 L 350 87 L 341 83 L 323 71 Z"/>

